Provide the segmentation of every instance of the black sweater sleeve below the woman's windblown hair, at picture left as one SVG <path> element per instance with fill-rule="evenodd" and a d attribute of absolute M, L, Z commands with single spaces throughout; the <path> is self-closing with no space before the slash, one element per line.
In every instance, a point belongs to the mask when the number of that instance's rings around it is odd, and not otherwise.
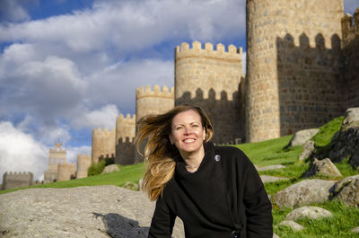
<path fill-rule="evenodd" d="M 176 216 L 162 198 L 158 198 L 154 209 L 148 238 L 170 238 Z"/>

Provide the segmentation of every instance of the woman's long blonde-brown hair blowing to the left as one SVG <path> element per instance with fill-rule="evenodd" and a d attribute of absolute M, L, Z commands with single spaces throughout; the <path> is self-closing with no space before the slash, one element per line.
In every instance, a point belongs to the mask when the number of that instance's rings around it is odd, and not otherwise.
<path fill-rule="evenodd" d="M 205 111 L 199 107 L 177 106 L 164 114 L 144 117 L 139 123 L 137 151 L 144 156 L 145 164 L 142 188 L 151 200 L 162 196 L 164 185 L 173 177 L 180 152 L 175 145 L 171 145 L 171 123 L 177 114 L 187 110 L 195 110 L 199 114 L 202 127 L 206 130 L 206 142 L 210 140 L 213 136 L 212 124 Z M 139 147 L 145 138 L 148 140 L 142 154 Z"/>

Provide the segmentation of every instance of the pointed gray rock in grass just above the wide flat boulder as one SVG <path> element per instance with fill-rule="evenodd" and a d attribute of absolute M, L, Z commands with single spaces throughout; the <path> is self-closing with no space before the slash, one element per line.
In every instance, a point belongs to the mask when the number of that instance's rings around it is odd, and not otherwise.
<path fill-rule="evenodd" d="M 323 160 L 318 160 L 314 158 L 313 163 L 311 163 L 311 168 L 304 173 L 304 178 L 308 178 L 314 175 L 324 175 L 331 178 L 343 176 L 337 169 L 337 166 L 332 163 L 328 158 Z"/>

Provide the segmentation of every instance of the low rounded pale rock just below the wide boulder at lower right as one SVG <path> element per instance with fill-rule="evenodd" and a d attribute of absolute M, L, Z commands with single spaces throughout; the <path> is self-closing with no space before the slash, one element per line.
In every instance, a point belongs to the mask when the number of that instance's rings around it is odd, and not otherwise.
<path fill-rule="evenodd" d="M 304 217 L 308 217 L 314 220 L 318 220 L 324 217 L 333 217 L 331 212 L 322 207 L 304 206 L 298 207 L 285 216 L 285 220 L 299 220 Z"/>

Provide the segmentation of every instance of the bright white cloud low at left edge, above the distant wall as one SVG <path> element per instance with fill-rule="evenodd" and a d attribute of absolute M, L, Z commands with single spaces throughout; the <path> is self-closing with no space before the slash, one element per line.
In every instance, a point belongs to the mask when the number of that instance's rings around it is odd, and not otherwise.
<path fill-rule="evenodd" d="M 39 180 L 48 166 L 48 148 L 29 134 L 0 122 L 0 180 L 4 172 L 32 172 Z"/>

